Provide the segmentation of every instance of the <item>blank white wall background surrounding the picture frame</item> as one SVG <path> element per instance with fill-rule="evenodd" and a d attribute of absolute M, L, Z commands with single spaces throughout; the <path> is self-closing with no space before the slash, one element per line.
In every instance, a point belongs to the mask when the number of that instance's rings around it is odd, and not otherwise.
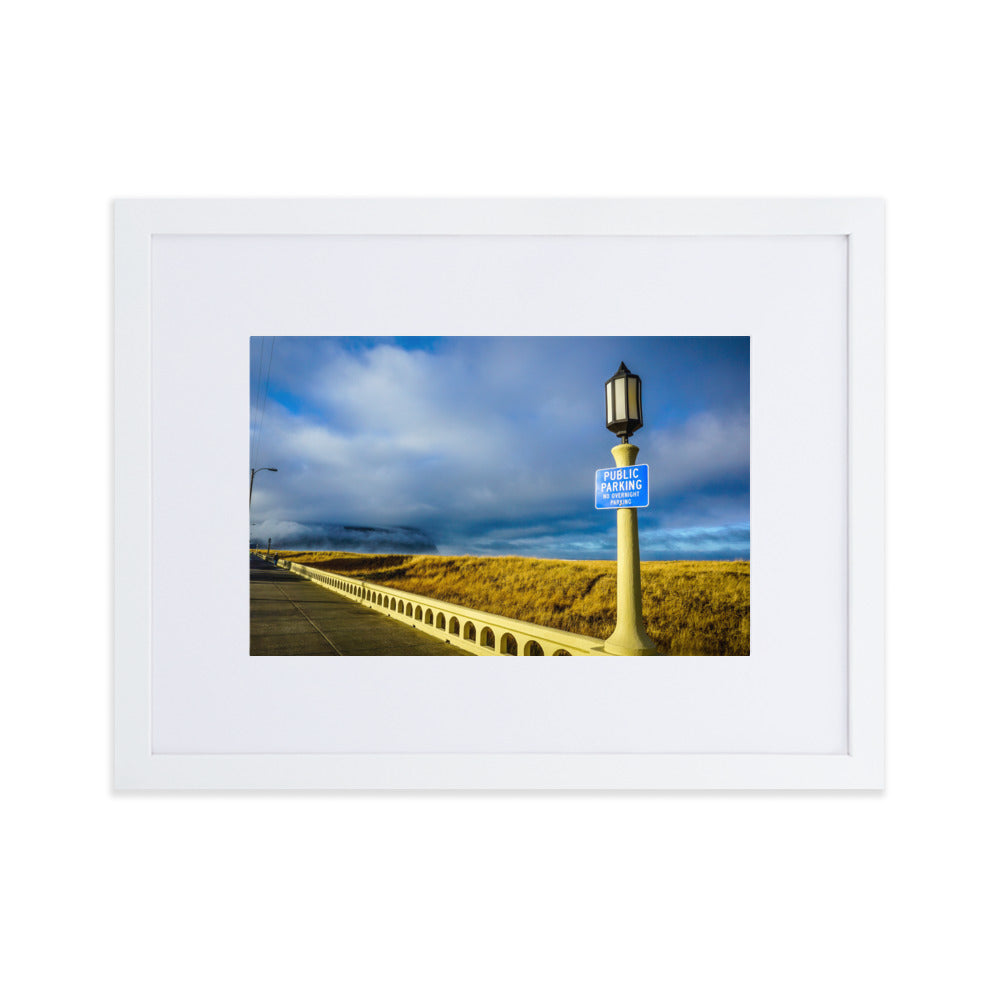
<path fill-rule="evenodd" d="M 988 13 L 8 11 L 2 992 L 996 995 Z M 351 194 L 887 197 L 884 794 L 111 794 L 110 200 Z"/>

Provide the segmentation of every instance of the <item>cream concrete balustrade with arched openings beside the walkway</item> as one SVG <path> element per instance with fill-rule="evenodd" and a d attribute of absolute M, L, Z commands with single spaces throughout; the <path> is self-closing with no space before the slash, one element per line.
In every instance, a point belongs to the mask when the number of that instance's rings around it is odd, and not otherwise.
<path fill-rule="evenodd" d="M 474 611 L 287 559 L 277 565 L 477 656 L 606 656 L 604 642 L 562 629 Z"/>

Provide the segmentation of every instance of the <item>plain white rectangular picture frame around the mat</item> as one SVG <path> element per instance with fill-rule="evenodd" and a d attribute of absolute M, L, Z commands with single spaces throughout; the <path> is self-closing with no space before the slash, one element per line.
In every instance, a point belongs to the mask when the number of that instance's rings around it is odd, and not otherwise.
<path fill-rule="evenodd" d="M 836 237 L 846 261 L 842 752 L 154 752 L 158 236 Z M 884 772 L 884 207 L 874 199 L 126 200 L 115 206 L 118 789 L 878 789 Z M 804 333 L 803 335 L 808 335 Z M 840 389 L 835 387 L 836 391 Z M 751 385 L 753 392 L 753 384 Z M 839 418 L 838 418 L 839 419 Z M 189 442 L 190 444 L 190 442 Z M 828 470 L 830 471 L 830 470 Z M 789 476 L 795 474 L 789 468 Z M 780 490 L 755 487 L 754 504 Z M 206 498 L 206 502 L 210 498 Z M 235 513 L 235 512 L 234 512 Z M 821 530 L 821 529 L 820 529 Z M 245 550 L 244 553 L 245 554 Z M 752 557 L 753 560 L 753 557 Z M 751 562 L 753 567 L 753 561 Z M 210 571 L 207 567 L 206 571 Z M 752 570 L 751 570 L 752 571 Z M 754 595 L 754 601 L 757 594 Z M 240 637 L 245 639 L 245 635 Z M 808 651 L 803 651 L 808 657 Z M 794 711 L 794 705 L 787 706 Z"/>

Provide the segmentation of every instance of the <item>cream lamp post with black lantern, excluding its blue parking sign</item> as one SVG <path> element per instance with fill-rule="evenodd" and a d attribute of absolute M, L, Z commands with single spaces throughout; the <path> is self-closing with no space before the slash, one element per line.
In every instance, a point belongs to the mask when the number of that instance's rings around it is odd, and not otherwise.
<path fill-rule="evenodd" d="M 621 363 L 604 383 L 607 427 L 622 440 L 611 449 L 619 468 L 635 465 L 639 449 L 629 437 L 642 427 L 642 379 Z M 618 619 L 604 649 L 614 656 L 651 656 L 656 644 L 642 621 L 642 580 L 639 576 L 639 518 L 634 507 L 618 508 Z"/>

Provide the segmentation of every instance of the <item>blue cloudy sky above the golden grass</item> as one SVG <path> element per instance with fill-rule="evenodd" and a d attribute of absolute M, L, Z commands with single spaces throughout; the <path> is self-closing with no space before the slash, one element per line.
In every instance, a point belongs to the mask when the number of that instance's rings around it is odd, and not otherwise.
<path fill-rule="evenodd" d="M 748 337 L 251 338 L 251 467 L 278 469 L 256 477 L 251 535 L 613 559 L 594 471 L 614 464 L 622 361 L 643 380 L 642 558 L 749 558 Z"/>

